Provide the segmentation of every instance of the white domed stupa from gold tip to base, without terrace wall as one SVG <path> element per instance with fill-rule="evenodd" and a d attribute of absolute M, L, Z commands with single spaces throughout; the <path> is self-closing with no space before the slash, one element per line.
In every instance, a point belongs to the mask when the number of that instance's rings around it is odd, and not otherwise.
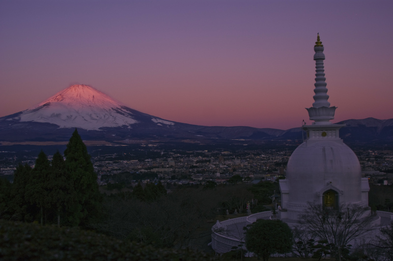
<path fill-rule="evenodd" d="M 307 139 L 292 153 L 286 179 L 280 180 L 282 219 L 298 220 L 307 202 L 333 209 L 342 203 L 368 206 L 368 180 L 362 178 L 355 153 L 338 135 L 345 125 L 330 122 L 337 107 L 328 102 L 323 50 L 318 34 L 314 46 L 315 102 L 306 108 L 314 122 L 303 126 Z"/>

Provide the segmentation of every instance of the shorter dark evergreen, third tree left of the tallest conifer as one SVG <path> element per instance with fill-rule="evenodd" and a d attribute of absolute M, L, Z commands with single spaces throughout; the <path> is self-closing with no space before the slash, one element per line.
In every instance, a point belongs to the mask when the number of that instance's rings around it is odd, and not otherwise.
<path fill-rule="evenodd" d="M 12 219 L 32 221 L 32 206 L 25 197 L 26 186 L 30 180 L 31 167 L 28 164 L 19 165 L 14 171 L 14 183 L 11 186 Z"/>

